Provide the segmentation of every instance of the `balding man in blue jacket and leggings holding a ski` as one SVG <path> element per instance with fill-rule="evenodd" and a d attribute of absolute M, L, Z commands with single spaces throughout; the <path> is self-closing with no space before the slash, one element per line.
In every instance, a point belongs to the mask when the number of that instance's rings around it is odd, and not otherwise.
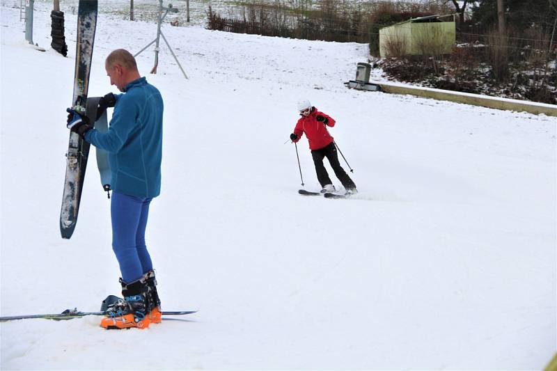
<path fill-rule="evenodd" d="M 109 93 L 99 102 L 99 110 L 114 107 L 108 132 L 98 132 L 72 109 L 68 109 L 68 128 L 109 152 L 112 248 L 120 265 L 124 300 L 109 307 L 101 326 L 144 329 L 161 321 L 145 229 L 150 202 L 161 187 L 163 102 L 159 90 L 141 77 L 127 50 L 111 52 L 104 67 L 110 84 L 123 92 Z"/>

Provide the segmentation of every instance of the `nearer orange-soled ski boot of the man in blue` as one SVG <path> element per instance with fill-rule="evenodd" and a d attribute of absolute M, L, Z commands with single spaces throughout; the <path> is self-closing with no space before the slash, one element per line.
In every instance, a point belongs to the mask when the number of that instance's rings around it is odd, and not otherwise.
<path fill-rule="evenodd" d="M 104 329 L 147 329 L 150 324 L 148 317 L 149 286 L 142 277 L 138 281 L 125 283 L 120 278 L 124 299 L 107 308 L 107 317 L 103 317 L 100 326 Z"/>

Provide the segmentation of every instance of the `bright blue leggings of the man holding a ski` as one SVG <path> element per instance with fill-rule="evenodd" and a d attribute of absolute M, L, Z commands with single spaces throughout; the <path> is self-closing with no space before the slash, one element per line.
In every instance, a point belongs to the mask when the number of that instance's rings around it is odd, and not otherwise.
<path fill-rule="evenodd" d="M 139 280 L 152 269 L 145 244 L 145 228 L 152 198 L 126 196 L 112 192 L 112 249 L 125 283 Z"/>

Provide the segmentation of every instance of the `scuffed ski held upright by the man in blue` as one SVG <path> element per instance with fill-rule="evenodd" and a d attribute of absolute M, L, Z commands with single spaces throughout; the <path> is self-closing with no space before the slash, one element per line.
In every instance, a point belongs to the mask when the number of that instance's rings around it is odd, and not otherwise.
<path fill-rule="evenodd" d="M 97 0 L 79 0 L 72 109 L 81 115 L 86 115 L 87 91 L 96 25 Z M 91 118 L 89 119 L 91 120 Z M 91 122 L 95 122 L 95 118 Z M 70 132 L 60 212 L 60 232 L 62 238 L 65 239 L 72 237 L 75 224 L 77 223 L 89 146 L 89 143 L 81 139 L 79 134 Z"/>

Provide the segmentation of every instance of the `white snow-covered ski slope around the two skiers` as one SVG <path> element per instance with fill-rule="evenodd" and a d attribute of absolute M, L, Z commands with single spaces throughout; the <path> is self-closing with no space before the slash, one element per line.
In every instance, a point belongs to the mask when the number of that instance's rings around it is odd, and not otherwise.
<path fill-rule="evenodd" d="M 0 313 L 97 310 L 119 285 L 94 157 L 74 236 L 58 231 L 76 19 L 65 19 L 68 58 L 38 52 L 11 3 L 0 21 Z M 47 49 L 49 24 L 38 6 L 33 37 Z M 112 49 L 138 52 L 155 33 L 101 13 L 90 95 L 115 91 Z M 138 57 L 165 99 L 148 245 L 164 309 L 199 312 L 145 331 L 104 331 L 96 317 L 5 322 L 2 370 L 544 367 L 557 348 L 556 118 L 347 90 L 366 45 L 164 34 L 189 79 L 164 45 L 158 74 L 152 48 Z M 336 118 L 356 198 L 297 194 L 284 142 L 299 97 Z M 298 150 L 317 189 L 305 139 Z"/>

